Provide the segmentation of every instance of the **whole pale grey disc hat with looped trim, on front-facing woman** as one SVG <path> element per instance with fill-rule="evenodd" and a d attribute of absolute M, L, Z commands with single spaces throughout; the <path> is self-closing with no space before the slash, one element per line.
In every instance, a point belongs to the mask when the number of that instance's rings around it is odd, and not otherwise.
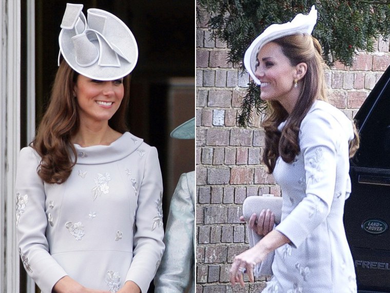
<path fill-rule="evenodd" d="M 60 56 L 79 74 L 96 80 L 115 80 L 128 75 L 138 60 L 138 47 L 130 29 L 115 15 L 66 5 L 59 36 Z"/>

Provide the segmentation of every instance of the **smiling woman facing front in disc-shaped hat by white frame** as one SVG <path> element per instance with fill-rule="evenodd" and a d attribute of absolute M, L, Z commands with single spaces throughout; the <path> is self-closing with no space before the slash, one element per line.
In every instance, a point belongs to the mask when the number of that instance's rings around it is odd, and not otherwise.
<path fill-rule="evenodd" d="M 67 5 L 50 103 L 20 154 L 18 251 L 43 293 L 147 292 L 163 188 L 157 150 L 124 120 L 138 47 L 118 17 L 82 8 Z"/>

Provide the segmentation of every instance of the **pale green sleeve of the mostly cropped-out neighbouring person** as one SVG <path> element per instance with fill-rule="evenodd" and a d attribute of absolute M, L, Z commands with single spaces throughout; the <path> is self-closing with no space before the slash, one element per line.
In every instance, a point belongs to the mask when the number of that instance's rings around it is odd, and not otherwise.
<path fill-rule="evenodd" d="M 166 249 L 154 278 L 155 293 L 182 293 L 191 279 L 191 269 L 194 265 L 195 212 L 191 193 L 193 193 L 194 181 L 187 180 L 187 176 L 194 175 L 193 173 L 180 176 L 172 195 L 164 236 Z"/>

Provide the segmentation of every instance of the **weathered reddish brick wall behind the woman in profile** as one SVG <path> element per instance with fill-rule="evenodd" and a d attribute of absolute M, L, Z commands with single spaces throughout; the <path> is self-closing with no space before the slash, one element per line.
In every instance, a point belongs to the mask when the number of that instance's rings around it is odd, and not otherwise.
<path fill-rule="evenodd" d="M 250 127 L 236 126 L 241 97 L 249 81 L 226 62 L 227 47 L 210 39 L 207 15 L 197 23 L 197 293 L 259 292 L 264 279 L 233 290 L 228 271 L 236 254 L 246 250 L 246 227 L 240 223 L 247 196 L 281 192 L 260 163 L 264 133 L 261 116 Z M 353 118 L 390 64 L 389 43 L 379 40 L 374 53 L 359 52 L 354 66 L 336 64 L 326 71 L 329 101 Z M 249 290 L 248 290 L 249 289 Z"/>

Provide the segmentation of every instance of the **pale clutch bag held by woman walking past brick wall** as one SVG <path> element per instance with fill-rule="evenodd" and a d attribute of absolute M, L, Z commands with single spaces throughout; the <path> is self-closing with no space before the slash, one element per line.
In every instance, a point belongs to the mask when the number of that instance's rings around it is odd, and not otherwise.
<path fill-rule="evenodd" d="M 253 213 L 259 215 L 262 210 L 270 209 L 275 214 L 275 224 L 279 224 L 282 217 L 282 202 L 280 196 L 248 196 L 242 205 L 245 221 L 248 222 Z"/>

